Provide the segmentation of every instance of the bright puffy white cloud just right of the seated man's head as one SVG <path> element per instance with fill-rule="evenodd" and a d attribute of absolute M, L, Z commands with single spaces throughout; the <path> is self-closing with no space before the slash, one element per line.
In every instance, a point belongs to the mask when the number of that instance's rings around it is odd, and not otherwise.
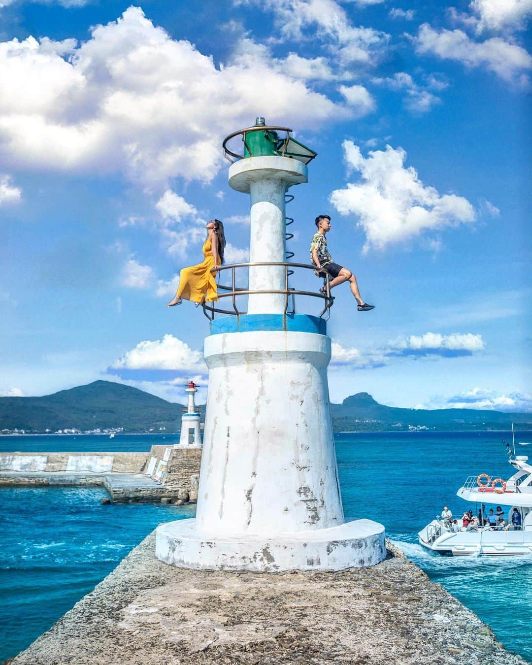
<path fill-rule="evenodd" d="M 386 146 L 386 150 L 369 152 L 367 158 L 351 141 L 344 141 L 343 148 L 348 170 L 357 171 L 361 182 L 334 190 L 330 200 L 341 215 L 358 216 L 358 225 L 366 233 L 364 251 L 475 221 L 467 199 L 440 196 L 434 187 L 422 183 L 412 166 L 404 168 L 402 148 Z"/>

